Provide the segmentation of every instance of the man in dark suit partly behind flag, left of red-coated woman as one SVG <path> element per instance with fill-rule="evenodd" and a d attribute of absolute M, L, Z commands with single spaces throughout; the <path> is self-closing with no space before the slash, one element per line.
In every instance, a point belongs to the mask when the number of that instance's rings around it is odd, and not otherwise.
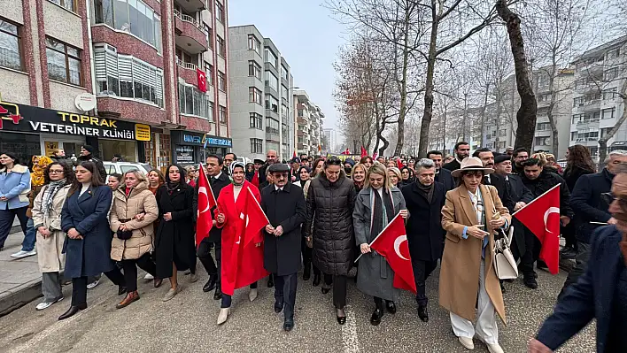
<path fill-rule="evenodd" d="M 224 173 L 222 170 L 223 161 L 222 157 L 217 155 L 209 155 L 206 159 L 205 172 L 207 178 L 209 179 L 209 184 L 211 185 L 213 196 L 215 199 L 218 199 L 220 196 L 220 191 L 222 188 L 226 187 L 230 184 L 231 180 L 228 178 L 228 175 Z M 193 214 L 194 214 L 194 222 L 196 222 L 198 216 L 198 182 L 196 183 L 196 187 L 194 188 L 194 202 L 193 202 Z M 213 219 L 213 211 L 215 208 L 212 208 L 210 211 L 211 217 Z M 197 255 L 200 262 L 205 267 L 205 271 L 209 273 L 209 280 L 203 286 L 203 291 L 209 292 L 215 288 L 215 293 L 213 294 L 213 299 L 219 300 L 222 297 L 222 292 L 220 288 L 220 266 L 222 259 L 222 229 L 215 226 L 215 220 L 213 219 L 213 227 L 211 231 L 209 231 L 209 236 L 205 237 L 200 244 L 198 244 Z M 211 256 L 211 249 L 215 248 L 215 263 L 213 262 L 213 257 Z"/>

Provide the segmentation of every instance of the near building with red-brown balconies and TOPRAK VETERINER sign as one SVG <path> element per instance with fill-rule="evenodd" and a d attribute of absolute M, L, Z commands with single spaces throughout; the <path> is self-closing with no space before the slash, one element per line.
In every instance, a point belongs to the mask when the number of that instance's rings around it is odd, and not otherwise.
<path fill-rule="evenodd" d="M 6 0 L 0 150 L 165 169 L 228 138 L 226 0 Z"/>

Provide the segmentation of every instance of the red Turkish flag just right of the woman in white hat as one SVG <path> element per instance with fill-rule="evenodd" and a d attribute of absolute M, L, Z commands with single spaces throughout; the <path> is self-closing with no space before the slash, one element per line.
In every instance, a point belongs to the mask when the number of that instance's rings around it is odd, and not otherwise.
<path fill-rule="evenodd" d="M 520 220 L 542 243 L 540 259 L 549 272 L 560 271 L 560 184 L 527 203 L 512 216 Z"/>

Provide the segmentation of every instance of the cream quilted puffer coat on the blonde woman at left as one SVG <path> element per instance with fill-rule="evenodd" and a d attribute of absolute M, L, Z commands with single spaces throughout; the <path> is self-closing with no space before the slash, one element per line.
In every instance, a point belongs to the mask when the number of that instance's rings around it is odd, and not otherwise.
<path fill-rule="evenodd" d="M 159 217 L 157 199 L 148 189 L 148 183 L 142 181 L 137 187 L 131 190 L 127 197 L 125 186 L 113 191 L 113 205 L 109 214 L 111 230 L 117 232 L 122 223 L 133 231 L 130 239 L 123 241 L 118 239 L 117 234 L 113 235 L 111 243 L 111 258 L 115 261 L 122 259 L 135 259 L 151 251 L 154 239 L 152 222 Z M 135 216 L 143 213 L 143 219 L 137 220 Z M 120 221 L 120 219 L 131 219 Z"/>

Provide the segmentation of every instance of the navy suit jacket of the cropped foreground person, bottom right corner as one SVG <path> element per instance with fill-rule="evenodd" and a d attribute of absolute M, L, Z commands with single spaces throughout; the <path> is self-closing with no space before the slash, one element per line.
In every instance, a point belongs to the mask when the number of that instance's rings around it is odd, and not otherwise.
<path fill-rule="evenodd" d="M 612 322 L 612 301 L 620 269 L 624 266 L 619 248 L 621 234 L 615 226 L 603 226 L 592 234 L 588 268 L 577 283 L 566 289 L 553 314 L 538 332 L 538 341 L 549 349 L 558 349 L 565 341 L 597 319 L 597 351 L 619 352 L 625 347 L 609 347 L 608 334 L 617 327 Z M 621 333 L 614 333 L 621 334 Z M 625 334 L 625 333 L 622 333 Z"/>

